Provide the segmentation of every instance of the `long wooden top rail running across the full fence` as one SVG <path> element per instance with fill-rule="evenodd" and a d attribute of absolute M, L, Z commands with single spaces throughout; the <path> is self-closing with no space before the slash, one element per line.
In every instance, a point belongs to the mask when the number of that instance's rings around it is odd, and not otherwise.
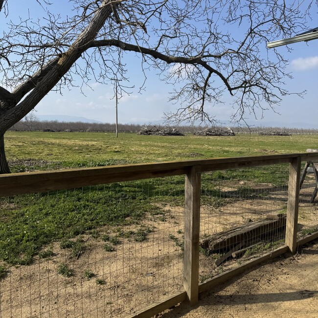
<path fill-rule="evenodd" d="M 118 165 L 48 172 L 13 173 L 0 175 L 0 196 L 185 175 L 193 166 L 200 166 L 201 171 L 204 172 L 289 163 L 292 159 L 297 157 L 300 157 L 302 161 L 318 159 L 317 153 L 302 153 Z"/>

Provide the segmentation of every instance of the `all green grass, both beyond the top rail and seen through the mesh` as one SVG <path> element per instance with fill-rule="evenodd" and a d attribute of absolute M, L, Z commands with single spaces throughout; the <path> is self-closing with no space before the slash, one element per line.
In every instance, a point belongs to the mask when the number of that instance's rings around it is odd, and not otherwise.
<path fill-rule="evenodd" d="M 140 136 L 104 133 L 9 132 L 5 135 L 12 172 L 110 164 L 241 157 L 305 152 L 318 136 Z M 216 171 L 203 175 L 206 204 L 226 204 L 213 180 L 246 179 L 286 184 L 288 165 Z M 183 205 L 183 176 L 0 198 L 0 259 L 29 264 L 52 242 L 98 232 L 100 227 L 140 226 L 147 214 L 164 221 L 160 204 Z M 258 194 L 242 186 L 240 196 Z M 231 199 L 232 200 L 232 199 Z M 92 232 L 93 233 L 93 232 Z M 121 232 L 120 235 L 136 235 Z M 0 264 L 1 265 L 1 264 Z"/>

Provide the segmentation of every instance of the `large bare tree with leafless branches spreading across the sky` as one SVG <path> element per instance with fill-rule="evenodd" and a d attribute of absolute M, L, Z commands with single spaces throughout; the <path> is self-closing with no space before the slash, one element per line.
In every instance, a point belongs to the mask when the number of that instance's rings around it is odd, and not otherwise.
<path fill-rule="evenodd" d="M 317 5 L 317 0 L 288 5 L 280 0 L 69 0 L 74 10 L 62 18 L 50 11 L 54 0 L 36 1 L 45 18 L 16 22 L 10 1 L 0 0 L 0 19 L 7 20 L 0 40 L 0 173 L 9 172 L 3 136 L 12 125 L 49 91 L 70 89 L 78 79 L 88 85 L 91 79 L 110 83 L 114 77 L 127 82 L 127 52 L 140 55 L 141 71 L 156 68 L 173 84 L 171 99 L 180 107 L 166 114 L 170 120 L 216 121 L 205 105 L 222 102 L 224 91 L 233 96 L 233 120 L 274 109 L 287 93 L 283 80 L 291 75 L 278 51 L 267 55 L 266 42 L 302 31 Z"/>

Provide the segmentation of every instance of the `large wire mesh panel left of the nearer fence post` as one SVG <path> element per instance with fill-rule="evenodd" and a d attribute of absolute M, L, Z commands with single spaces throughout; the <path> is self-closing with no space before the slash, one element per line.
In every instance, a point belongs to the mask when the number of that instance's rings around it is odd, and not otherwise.
<path fill-rule="evenodd" d="M 182 290 L 184 178 L 1 198 L 1 317 L 125 317 Z"/>

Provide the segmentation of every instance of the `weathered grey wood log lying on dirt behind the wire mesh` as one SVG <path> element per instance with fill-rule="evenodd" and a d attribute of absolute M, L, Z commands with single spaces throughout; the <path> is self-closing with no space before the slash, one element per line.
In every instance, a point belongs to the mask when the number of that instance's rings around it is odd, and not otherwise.
<path fill-rule="evenodd" d="M 205 238 L 201 247 L 209 253 L 227 252 L 232 246 L 244 243 L 249 246 L 253 240 L 268 239 L 274 232 L 284 230 L 286 227 L 286 216 L 281 215 L 278 219 L 262 219 L 252 221 L 240 227 L 220 232 Z"/>

